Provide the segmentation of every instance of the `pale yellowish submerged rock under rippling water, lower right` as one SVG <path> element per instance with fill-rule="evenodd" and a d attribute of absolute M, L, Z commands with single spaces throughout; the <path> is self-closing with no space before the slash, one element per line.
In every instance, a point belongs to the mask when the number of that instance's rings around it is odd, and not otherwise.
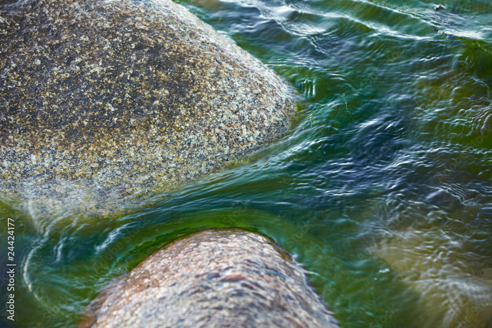
<path fill-rule="evenodd" d="M 461 243 L 469 236 L 457 235 L 441 227 L 408 228 L 375 249 L 420 294 L 418 327 L 491 327 L 492 268 L 486 267 L 488 259 L 466 252 Z"/>

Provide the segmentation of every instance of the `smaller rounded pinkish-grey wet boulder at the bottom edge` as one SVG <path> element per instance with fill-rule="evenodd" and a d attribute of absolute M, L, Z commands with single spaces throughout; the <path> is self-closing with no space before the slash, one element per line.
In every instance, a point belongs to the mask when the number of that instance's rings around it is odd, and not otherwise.
<path fill-rule="evenodd" d="M 305 270 L 244 229 L 178 239 L 115 281 L 79 327 L 338 327 Z"/>

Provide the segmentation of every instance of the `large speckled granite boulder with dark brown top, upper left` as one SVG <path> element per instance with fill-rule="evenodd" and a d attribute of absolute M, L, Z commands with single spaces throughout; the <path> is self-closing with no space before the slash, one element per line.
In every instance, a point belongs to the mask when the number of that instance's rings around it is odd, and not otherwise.
<path fill-rule="evenodd" d="M 272 70 L 170 0 L 0 3 L 0 197 L 101 211 L 290 124 Z"/>

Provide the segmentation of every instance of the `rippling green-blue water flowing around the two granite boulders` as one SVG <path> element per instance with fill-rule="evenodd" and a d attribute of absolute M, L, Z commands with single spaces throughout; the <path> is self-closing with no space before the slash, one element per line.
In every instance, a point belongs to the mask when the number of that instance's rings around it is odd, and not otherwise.
<path fill-rule="evenodd" d="M 240 226 L 291 252 L 343 327 L 492 327 L 492 3 L 181 3 L 298 89 L 299 124 L 120 217 L 39 229 L 1 205 L 18 267 L 0 326 L 73 327 L 166 242 Z"/>

